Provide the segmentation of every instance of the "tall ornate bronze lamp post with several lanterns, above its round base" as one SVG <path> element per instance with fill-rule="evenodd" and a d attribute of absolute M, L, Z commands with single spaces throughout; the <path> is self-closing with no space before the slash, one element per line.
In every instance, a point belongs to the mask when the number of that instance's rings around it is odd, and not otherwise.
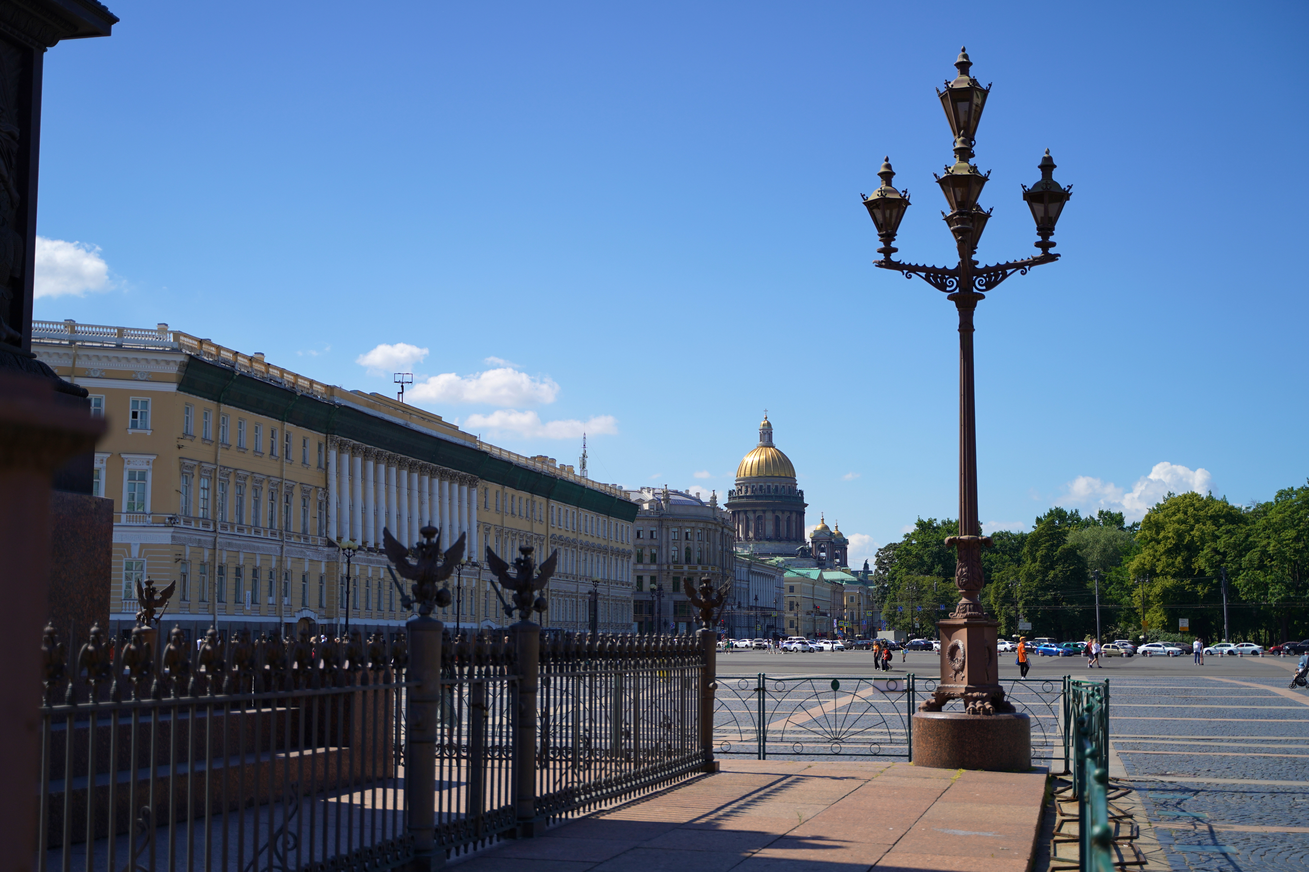
<path fill-rule="evenodd" d="M 1041 179 L 1024 187 L 1022 199 L 1031 209 L 1037 222 L 1037 235 L 1041 241 L 1035 247 L 1041 254 L 1024 260 L 1000 264 L 978 265 L 974 259 L 978 242 L 991 217 L 990 209 L 978 205 L 982 190 L 990 173 L 982 174 L 970 161 L 977 143 L 977 129 L 982 120 L 982 110 L 991 94 L 991 86 L 983 88 L 970 75 L 973 63 L 967 52 L 959 52 L 954 61 L 958 76 L 945 84 L 944 92 L 937 92 L 941 107 L 954 136 L 954 165 L 945 167 L 945 175 L 937 176 L 941 193 L 950 207 L 945 214 L 945 225 L 954 235 L 959 261 L 954 267 L 924 267 L 901 263 L 893 259 L 898 251 L 893 243 L 901 220 L 908 209 L 907 192 L 902 193 L 891 186 L 895 173 L 888 158 L 877 174 L 881 187 L 864 197 L 868 214 L 877 227 L 882 246 L 877 250 L 880 260 L 873 265 L 881 269 L 894 269 L 906 278 L 918 276 L 940 292 L 948 294 L 959 316 L 959 535 L 945 540 L 956 549 L 956 584 L 959 601 L 950 617 L 937 626 L 941 630 L 941 682 L 931 699 L 919 706 L 920 711 L 939 713 L 949 699 L 961 699 L 970 715 L 991 715 L 1012 713 L 1013 706 L 1004 699 L 999 684 L 996 665 L 996 621 L 988 620 L 978 599 L 982 590 L 982 546 L 991 540 L 982 535 L 978 518 L 978 475 L 977 475 L 977 417 L 973 390 L 973 312 L 986 292 L 994 290 L 1013 273 L 1026 273 L 1033 267 L 1054 263 L 1059 255 L 1050 248 L 1054 242 L 1055 224 L 1059 213 L 1071 196 L 1071 186 L 1060 187 L 1051 174 L 1055 162 L 1047 150 L 1041 159 Z M 919 731 L 914 739 L 918 744 Z M 915 749 L 915 762 L 919 753 Z M 928 763 L 932 765 L 932 763 Z M 1028 763 L 1024 762 L 1024 766 Z"/>

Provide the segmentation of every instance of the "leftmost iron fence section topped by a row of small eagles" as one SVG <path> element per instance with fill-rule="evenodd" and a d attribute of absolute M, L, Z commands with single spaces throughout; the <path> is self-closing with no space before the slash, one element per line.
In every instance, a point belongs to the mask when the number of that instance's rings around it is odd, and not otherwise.
<path fill-rule="evenodd" d="M 386 868 L 406 646 L 46 628 L 38 869 Z"/>

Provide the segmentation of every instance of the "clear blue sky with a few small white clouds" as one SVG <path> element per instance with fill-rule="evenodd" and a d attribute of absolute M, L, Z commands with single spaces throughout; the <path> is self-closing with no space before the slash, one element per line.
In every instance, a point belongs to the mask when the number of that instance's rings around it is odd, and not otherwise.
<path fill-rule="evenodd" d="M 1302 3 L 111 8 L 46 60 L 38 318 L 364 390 L 410 360 L 423 405 L 563 461 L 586 426 L 627 486 L 721 494 L 767 408 L 863 557 L 957 512 L 954 310 L 870 265 L 857 197 L 889 154 L 899 256 L 953 263 L 967 44 L 979 258 L 1035 254 L 1046 148 L 1073 184 L 1063 260 L 978 311 L 988 529 L 1305 480 Z"/>

